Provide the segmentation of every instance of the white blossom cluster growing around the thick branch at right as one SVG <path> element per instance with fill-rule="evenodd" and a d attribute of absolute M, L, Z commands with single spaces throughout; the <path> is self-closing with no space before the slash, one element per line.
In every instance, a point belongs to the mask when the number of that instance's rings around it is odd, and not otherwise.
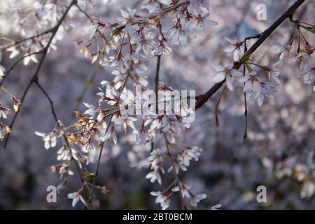
<path fill-rule="evenodd" d="M 315 66 L 314 60 L 314 45 L 310 45 L 309 42 L 304 38 L 302 31 L 297 26 L 295 35 L 302 36 L 304 41 L 304 48 L 301 47 L 302 43 L 299 42 L 297 45 L 297 53 L 293 55 L 291 61 L 297 62 L 299 64 L 301 73 L 299 77 L 304 78 L 304 83 L 314 83 L 315 81 Z M 240 72 L 235 69 L 233 64 L 228 64 L 226 66 L 214 65 L 214 70 L 217 72 L 214 76 L 214 83 L 221 83 L 225 80 L 226 85 L 230 91 L 235 89 L 234 83 L 235 80 L 239 83 L 244 83 L 243 92 L 248 94 L 250 99 L 257 99 L 258 105 L 262 106 L 265 97 L 272 97 L 272 94 L 276 92 L 276 88 L 280 85 L 280 69 L 279 64 L 287 62 L 288 57 L 290 57 L 290 51 L 292 50 L 293 41 L 295 36 L 286 44 L 286 45 L 273 45 L 270 48 L 270 52 L 274 54 L 279 54 L 279 59 L 269 64 L 268 66 L 262 66 L 260 64 L 252 62 L 250 58 L 244 58 L 243 55 L 245 51 L 242 50 L 245 41 L 237 41 L 231 38 L 225 38 L 230 45 L 226 46 L 223 50 L 225 52 L 233 53 L 233 60 L 235 63 L 242 63 L 246 66 L 248 72 Z M 244 49 L 244 48 L 243 48 Z M 313 64 L 311 64 L 313 63 Z M 255 71 L 251 66 L 257 66 L 260 71 Z M 262 72 L 261 72 L 262 71 Z M 267 77 L 266 77 L 267 75 Z M 314 87 L 315 90 L 315 87 Z"/>

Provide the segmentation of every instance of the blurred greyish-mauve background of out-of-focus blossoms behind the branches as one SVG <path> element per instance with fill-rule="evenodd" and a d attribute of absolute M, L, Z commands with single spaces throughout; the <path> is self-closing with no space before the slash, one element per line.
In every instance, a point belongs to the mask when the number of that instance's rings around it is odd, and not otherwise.
<path fill-rule="evenodd" d="M 138 8 L 143 1 L 102 0 L 86 6 L 90 15 L 113 22 L 120 15 L 120 8 Z M 13 24 L 14 8 L 18 1 L 0 1 L 0 34 L 19 39 L 19 31 Z M 64 1 L 67 3 L 67 1 Z M 267 20 L 258 21 L 256 6 L 265 3 Z M 190 40 L 188 45 L 173 49 L 171 56 L 162 56 L 160 77 L 176 90 L 207 91 L 214 76 L 213 64 L 228 64 L 232 55 L 223 52 L 228 42 L 223 37 L 241 40 L 264 31 L 281 15 L 293 1 L 246 1 L 211 0 L 211 20 L 216 27 L 207 27 L 204 36 Z M 31 7 L 34 1 L 23 1 Z M 20 7 L 20 6 L 19 6 Z M 295 18 L 314 24 L 315 1 L 306 1 L 295 13 Z M 101 80 L 111 80 L 106 67 L 91 64 L 79 52 L 75 42 L 90 36 L 90 21 L 78 10 L 71 11 L 70 28 L 57 50 L 46 57 L 41 69 L 40 81 L 55 102 L 58 117 L 65 125 L 71 125 L 73 111 L 85 111 L 81 102 L 97 103 L 95 93 Z M 269 48 L 273 44 L 285 44 L 293 35 L 294 26 L 286 21 L 253 55 L 255 62 L 268 65 L 276 61 Z M 303 31 L 311 45 L 314 34 Z M 250 45 L 249 42 L 248 45 Z M 1 65 L 9 68 L 15 59 L 10 52 L 3 52 Z M 293 55 L 292 55 L 293 57 Z M 156 59 L 151 59 L 148 80 L 154 86 Z M 314 57 L 311 59 L 314 64 Z M 36 64 L 15 67 L 6 80 L 6 89 L 18 99 L 25 90 Z M 207 105 L 197 111 L 195 123 L 189 130 L 179 134 L 178 142 L 203 148 L 200 161 L 192 162 L 181 179 L 197 192 L 207 193 L 200 207 L 222 204 L 221 209 L 315 209 L 315 95 L 313 85 L 303 83 L 297 75 L 299 68 L 293 62 L 281 64 L 281 87 L 274 99 L 265 99 L 262 107 L 248 102 L 248 138 L 243 141 L 244 97 L 241 85 L 235 92 L 226 91 L 220 108 L 220 127 L 214 123 L 215 94 Z M 6 101 L 6 99 L 3 99 Z M 8 118 L 8 122 L 12 119 Z M 46 188 L 57 186 L 59 176 L 50 172 L 57 163 L 56 151 L 48 151 L 34 132 L 50 132 L 55 126 L 50 105 L 36 85 L 31 87 L 16 120 L 8 147 L 3 151 L 0 143 L 0 209 L 72 209 L 66 195 L 78 188 L 78 180 L 69 179 L 68 186 L 57 195 L 57 203 L 46 201 Z M 166 186 L 152 185 L 145 179 L 148 167 L 139 168 L 132 160 L 139 147 L 129 144 L 130 136 L 120 134 L 117 146 L 104 148 L 97 184 L 105 185 L 110 192 L 98 195 L 99 209 L 160 209 L 155 204 L 152 190 Z M 91 152 L 93 161 L 97 152 Z M 90 168 L 94 170 L 95 163 Z M 172 175 L 162 176 L 164 184 L 172 181 Z M 256 201 L 257 186 L 267 187 L 267 203 Z M 179 208 L 179 201 L 171 203 L 170 209 Z M 76 209 L 83 209 L 78 204 Z"/>

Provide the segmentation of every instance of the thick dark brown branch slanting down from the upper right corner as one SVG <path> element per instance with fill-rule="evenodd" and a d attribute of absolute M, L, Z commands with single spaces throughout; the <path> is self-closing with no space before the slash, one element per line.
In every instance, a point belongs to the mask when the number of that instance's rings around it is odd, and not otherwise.
<path fill-rule="evenodd" d="M 260 35 L 260 37 L 258 38 L 257 41 L 255 41 L 255 43 L 253 43 L 253 45 L 251 46 L 251 48 L 248 49 L 248 51 L 243 55 L 243 57 L 241 57 L 241 59 L 239 60 L 239 62 L 236 62 L 233 69 L 239 69 L 241 64 L 244 63 L 244 59 L 248 59 L 249 57 L 251 57 L 251 55 L 253 54 L 253 52 L 255 52 L 255 50 L 257 50 L 257 48 L 259 48 L 259 46 L 270 36 L 270 34 L 272 34 L 272 32 L 279 27 L 279 25 L 281 25 L 281 23 L 286 20 L 287 18 L 290 18 L 290 16 L 293 15 L 293 13 L 295 12 L 295 10 L 297 10 L 297 8 L 299 8 L 302 3 L 304 3 L 305 0 L 297 0 L 295 1 L 295 3 L 293 3 L 293 5 L 288 8 L 288 10 L 286 10 L 285 13 L 283 13 L 278 20 L 276 20 L 268 29 L 266 29 L 265 31 L 262 32 L 262 34 Z M 223 85 L 223 83 L 225 83 L 225 80 L 223 80 L 221 83 L 216 83 L 215 85 L 213 85 L 207 92 L 205 92 L 204 94 L 201 94 L 199 96 L 196 97 L 196 107 L 195 109 L 199 109 L 201 106 L 203 106 L 208 99 L 210 99 L 212 97 L 212 95 L 214 93 L 216 93 L 216 91 L 218 91 L 221 86 Z"/>

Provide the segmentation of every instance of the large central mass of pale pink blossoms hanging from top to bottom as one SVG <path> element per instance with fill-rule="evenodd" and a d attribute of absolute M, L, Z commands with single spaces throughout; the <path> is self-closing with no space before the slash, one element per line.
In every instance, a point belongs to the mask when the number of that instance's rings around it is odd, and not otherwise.
<path fill-rule="evenodd" d="M 76 112 L 78 131 L 71 133 L 73 138 L 71 142 L 80 142 L 86 151 L 97 148 L 99 142 L 104 144 L 104 141 L 113 141 L 117 144 L 116 132 L 120 125 L 123 125 L 125 132 L 129 127 L 134 134 L 134 143 L 143 146 L 156 145 L 155 139 L 161 135 L 174 139 L 179 130 L 189 127 L 189 123 L 183 123 L 182 115 L 186 116 L 194 111 L 191 111 L 187 104 L 181 104 L 179 108 L 181 116 L 161 113 L 172 102 L 172 98 L 167 100 L 165 107 L 162 108 L 156 105 L 160 102 L 153 102 L 151 113 L 145 113 L 146 107 L 141 105 L 141 116 L 121 113 L 122 105 L 123 102 L 124 104 L 127 102 L 128 109 L 137 107 L 134 100 L 129 100 L 137 96 L 135 88 L 137 85 L 149 90 L 146 75 L 148 59 L 171 54 L 174 45 L 186 45 L 189 38 L 195 38 L 197 32 L 204 33 L 205 23 L 216 25 L 216 22 L 208 19 L 209 1 L 145 1 L 141 10 L 127 8 L 121 9 L 120 13 L 121 17 L 116 23 L 90 18 L 92 21 L 90 36 L 77 42 L 80 51 L 85 57 L 90 58 L 92 63 L 98 61 L 102 66 L 113 69 L 113 80 L 103 80 L 99 87 L 101 90 L 97 93 L 99 104 L 94 106 L 85 103 L 87 111 L 83 114 Z M 134 88 L 128 90 L 127 87 L 132 85 Z M 159 83 L 157 88 L 176 95 L 173 88 L 164 83 Z M 107 106 L 104 107 L 104 104 Z M 188 147 L 182 148 L 178 153 L 176 151 L 170 153 L 174 154 L 172 155 L 174 160 L 171 161 L 172 166 L 168 172 L 175 169 L 177 177 L 179 168 L 186 171 L 190 159 L 197 160 L 200 149 Z M 151 149 L 151 155 L 148 156 L 151 171 L 146 178 L 152 183 L 155 181 L 162 183 L 160 173 L 165 173 L 162 164 L 168 156 L 170 155 L 166 153 L 165 148 Z M 205 198 L 204 195 L 195 196 L 188 191 L 188 187 L 181 186 L 185 185 L 176 179 L 170 186 L 172 193 L 180 191 L 181 195 L 191 199 L 193 207 L 197 207 L 197 202 Z M 168 207 L 172 193 L 167 196 L 166 202 L 165 197 L 158 196 L 156 202 L 161 203 L 162 209 Z"/>

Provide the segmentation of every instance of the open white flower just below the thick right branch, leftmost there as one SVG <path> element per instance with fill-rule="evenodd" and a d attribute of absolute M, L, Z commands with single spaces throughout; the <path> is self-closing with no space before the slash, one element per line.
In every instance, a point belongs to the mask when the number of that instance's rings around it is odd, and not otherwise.
<path fill-rule="evenodd" d="M 214 65 L 213 68 L 218 73 L 216 73 L 216 75 L 214 76 L 214 79 L 212 81 L 214 83 L 221 83 L 223 80 L 225 80 L 226 85 L 228 86 L 230 91 L 234 90 L 232 78 L 243 76 L 243 73 L 241 73 L 237 69 L 233 69 L 232 64 L 228 64 L 224 67 L 221 65 Z"/>

